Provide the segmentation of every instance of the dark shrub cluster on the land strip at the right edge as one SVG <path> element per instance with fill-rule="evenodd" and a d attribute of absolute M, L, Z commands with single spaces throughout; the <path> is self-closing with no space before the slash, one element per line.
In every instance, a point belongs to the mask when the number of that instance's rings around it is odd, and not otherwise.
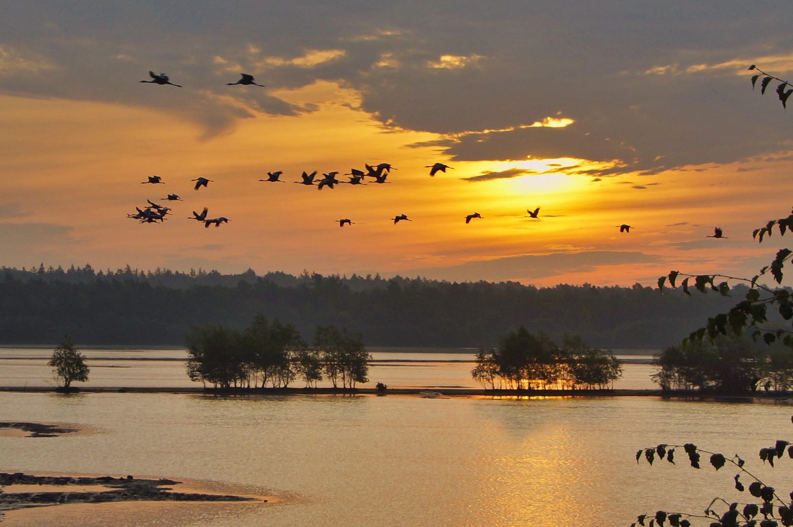
<path fill-rule="evenodd" d="M 767 346 L 733 333 L 713 342 L 688 341 L 656 355 L 653 381 L 664 391 L 752 393 L 757 388 L 787 391 L 793 388 L 793 350 Z"/>

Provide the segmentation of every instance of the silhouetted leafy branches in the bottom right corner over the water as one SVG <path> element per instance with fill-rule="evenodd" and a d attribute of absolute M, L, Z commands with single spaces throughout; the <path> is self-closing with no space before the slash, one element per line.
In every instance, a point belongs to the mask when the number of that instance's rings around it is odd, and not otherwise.
<path fill-rule="evenodd" d="M 758 525 L 757 520 L 755 519 L 757 514 L 763 514 L 764 518 L 762 521 L 760 521 L 759 527 L 778 527 L 779 523 L 776 520 L 779 520 L 782 525 L 793 525 L 793 503 L 788 504 L 785 502 L 782 498 L 780 498 L 779 495 L 777 495 L 774 487 L 769 487 L 756 475 L 753 475 L 751 472 L 746 470 L 746 468 L 744 468 L 745 461 L 737 456 L 737 454 L 732 458 L 727 458 L 720 453 L 699 449 L 692 443 L 686 443 L 685 445 L 663 444 L 649 449 L 640 449 L 636 453 L 636 462 L 638 463 L 640 460 L 642 460 L 643 455 L 650 465 L 653 464 L 653 460 L 655 460 L 656 456 L 658 456 L 659 460 L 666 459 L 669 463 L 675 464 L 675 449 L 684 449 L 685 453 L 688 454 L 688 461 L 693 468 L 700 468 L 699 460 L 701 454 L 710 455 L 710 463 L 717 471 L 725 464 L 733 464 L 734 467 L 736 467 L 739 471 L 734 476 L 735 488 L 737 491 L 744 492 L 746 490 L 740 478 L 741 475 L 747 475 L 749 478 L 753 479 L 753 482 L 749 483 L 749 494 L 753 495 L 755 498 L 762 498 L 763 502 L 761 504 L 741 502 L 730 503 L 726 502 L 726 500 L 723 498 L 717 497 L 711 500 L 711 503 L 705 508 L 704 516 L 687 513 L 668 513 L 666 511 L 659 510 L 656 512 L 655 516 L 650 519 L 649 527 L 653 527 L 653 525 L 660 525 L 660 527 L 664 527 L 664 522 L 667 520 L 669 521 L 669 525 L 672 525 L 672 527 L 689 527 L 691 525 L 691 522 L 688 521 L 689 517 L 702 517 L 710 520 L 716 520 L 715 522 L 711 523 L 711 527 L 738 527 L 738 521 L 742 518 L 742 520 L 745 521 L 745 524 L 743 525 L 747 527 L 755 527 Z M 764 463 L 768 461 L 768 464 L 773 467 L 774 459 L 780 459 L 784 455 L 786 449 L 787 456 L 793 458 L 793 445 L 791 445 L 790 441 L 779 440 L 776 441 L 776 444 L 771 448 L 760 449 L 760 459 L 763 460 Z M 793 492 L 791 492 L 790 498 L 793 499 Z M 726 506 L 728 506 L 728 510 L 726 510 L 723 514 L 718 514 L 718 512 L 712 508 L 715 502 L 723 502 Z M 776 515 L 774 514 L 775 502 L 779 504 L 776 508 Z M 740 505 L 744 506 L 742 510 L 738 510 L 738 506 Z M 639 525 L 646 525 L 645 520 L 648 517 L 648 514 L 639 515 L 637 517 L 637 521 L 631 524 L 630 527 L 635 527 L 637 523 Z"/>

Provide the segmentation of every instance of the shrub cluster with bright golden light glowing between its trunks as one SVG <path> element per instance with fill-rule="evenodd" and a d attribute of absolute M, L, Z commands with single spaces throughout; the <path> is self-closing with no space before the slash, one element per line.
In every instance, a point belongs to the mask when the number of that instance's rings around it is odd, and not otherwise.
<path fill-rule="evenodd" d="M 542 331 L 520 327 L 501 338 L 497 349 L 481 349 L 471 370 L 485 389 L 594 389 L 613 387 L 623 376 L 610 352 L 565 336 L 561 347 Z"/>

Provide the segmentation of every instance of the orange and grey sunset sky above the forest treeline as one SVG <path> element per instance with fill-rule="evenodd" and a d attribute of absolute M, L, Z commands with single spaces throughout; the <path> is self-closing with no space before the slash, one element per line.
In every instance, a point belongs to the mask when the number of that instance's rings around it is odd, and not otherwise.
<path fill-rule="evenodd" d="M 650 285 L 751 277 L 793 245 L 751 236 L 793 205 L 793 109 L 747 71 L 793 77 L 787 2 L 2 12 L 0 265 Z M 184 87 L 138 82 L 149 70 Z M 242 72 L 266 87 L 225 86 Z M 390 184 L 293 184 L 379 162 Z M 435 162 L 454 170 L 430 178 Z M 288 183 L 259 181 L 275 170 Z M 140 185 L 152 174 L 165 185 Z M 128 219 L 167 193 L 184 200 L 169 220 Z M 231 221 L 187 220 L 203 207 Z"/>

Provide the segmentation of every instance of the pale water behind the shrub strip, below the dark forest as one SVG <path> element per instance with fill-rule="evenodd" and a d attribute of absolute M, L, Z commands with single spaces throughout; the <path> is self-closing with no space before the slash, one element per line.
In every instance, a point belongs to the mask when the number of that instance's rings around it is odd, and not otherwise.
<path fill-rule="evenodd" d="M 184 349 L 81 349 L 88 357 L 90 381 L 79 386 L 93 387 L 197 387 L 185 373 Z M 618 352 L 619 353 L 619 352 Z M 650 352 L 651 353 L 651 352 Z M 0 348 L 0 386 L 56 386 L 47 361 L 52 348 Z M 475 353 L 394 353 L 375 351 L 370 383 L 392 388 L 481 388 L 471 379 Z M 651 355 L 618 355 L 630 359 L 650 359 Z M 379 362 L 388 361 L 388 362 Z M 419 362 L 420 361 L 420 362 Z M 649 376 L 652 365 L 623 365 L 623 378 L 615 388 L 657 389 Z M 323 386 L 324 384 L 320 384 Z M 327 384 L 330 386 L 330 384 Z M 296 380 L 293 386 L 303 386 Z"/>

